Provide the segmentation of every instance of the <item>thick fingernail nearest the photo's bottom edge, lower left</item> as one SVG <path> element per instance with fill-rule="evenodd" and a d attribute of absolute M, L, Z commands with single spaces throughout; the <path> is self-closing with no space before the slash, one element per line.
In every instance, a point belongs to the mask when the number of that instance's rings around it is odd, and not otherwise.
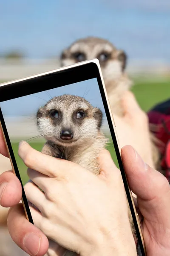
<path fill-rule="evenodd" d="M 37 255 L 40 250 L 40 236 L 34 233 L 29 233 L 24 238 L 24 246 L 31 255 Z"/>

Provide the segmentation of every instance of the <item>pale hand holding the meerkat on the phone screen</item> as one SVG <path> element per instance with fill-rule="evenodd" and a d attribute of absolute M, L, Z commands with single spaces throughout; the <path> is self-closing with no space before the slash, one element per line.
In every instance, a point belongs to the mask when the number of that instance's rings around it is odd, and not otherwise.
<path fill-rule="evenodd" d="M 81 256 L 136 255 L 122 176 L 108 151 L 99 157 L 99 176 L 25 142 L 19 155 L 34 182 L 24 187 L 28 201 L 37 208 L 30 206 L 34 224 L 49 239 Z"/>

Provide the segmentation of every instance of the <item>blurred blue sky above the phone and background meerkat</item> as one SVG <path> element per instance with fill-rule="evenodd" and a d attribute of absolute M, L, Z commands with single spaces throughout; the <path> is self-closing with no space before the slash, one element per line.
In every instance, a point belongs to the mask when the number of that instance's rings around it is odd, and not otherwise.
<path fill-rule="evenodd" d="M 46 58 L 94 35 L 125 49 L 129 58 L 170 61 L 170 0 L 1 1 L 0 32 L 0 53 L 20 49 Z"/>

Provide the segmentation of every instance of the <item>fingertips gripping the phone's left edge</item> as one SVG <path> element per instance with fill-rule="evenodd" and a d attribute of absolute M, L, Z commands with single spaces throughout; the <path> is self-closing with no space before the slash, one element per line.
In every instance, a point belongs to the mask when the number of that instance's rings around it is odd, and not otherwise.
<path fill-rule="evenodd" d="M 5 157 L 8 157 L 8 152 L 6 150 L 6 144 L 3 140 L 3 134 L 0 129 L 0 154 Z M 34 253 L 37 252 L 37 256 L 42 256 L 48 250 L 48 239 L 46 236 L 34 225 L 28 223 L 26 225 L 26 229 L 24 229 L 24 222 L 26 221 L 26 215 L 23 210 L 23 206 L 18 204 L 22 198 L 22 187 L 21 183 L 18 178 L 14 175 L 13 171 L 3 172 L 0 175 L 0 207 L 13 207 L 11 208 L 11 213 L 9 215 L 9 223 L 12 223 L 12 219 L 10 222 L 10 217 L 12 218 L 16 216 L 16 222 L 19 221 L 20 225 L 20 237 L 17 236 L 17 244 L 23 250 L 25 250 L 30 255 L 35 255 Z M 17 205 L 18 204 L 18 205 Z M 17 205 L 16 207 L 14 207 Z M 0 208 L 0 215 L 2 218 L 2 214 L 4 213 L 5 208 Z M 15 211 L 15 209 L 19 209 Z M 7 214 L 7 212 L 5 212 Z M 5 214 L 4 213 L 4 214 Z M 19 213 L 19 214 L 18 214 Z M 0 220 L 1 220 L 0 218 Z M 4 219 L 4 218 L 2 218 Z M 23 226 L 22 226 L 22 219 L 23 219 Z M 26 223 L 27 224 L 27 223 Z M 9 228 L 14 228 L 14 232 L 18 232 L 18 229 L 14 227 L 14 225 L 9 224 Z M 16 233 L 17 234 L 17 233 Z M 34 235 L 37 235 L 40 239 L 40 243 L 34 239 Z M 14 241 L 16 242 L 16 239 Z M 26 248 L 28 247 L 28 249 Z"/>

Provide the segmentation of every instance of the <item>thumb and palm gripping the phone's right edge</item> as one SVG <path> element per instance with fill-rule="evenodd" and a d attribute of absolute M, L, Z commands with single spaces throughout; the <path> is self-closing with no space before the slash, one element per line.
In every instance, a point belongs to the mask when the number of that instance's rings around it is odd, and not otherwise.
<path fill-rule="evenodd" d="M 130 189 L 137 195 L 147 256 L 170 255 L 170 185 L 130 146 L 122 149 Z"/>

